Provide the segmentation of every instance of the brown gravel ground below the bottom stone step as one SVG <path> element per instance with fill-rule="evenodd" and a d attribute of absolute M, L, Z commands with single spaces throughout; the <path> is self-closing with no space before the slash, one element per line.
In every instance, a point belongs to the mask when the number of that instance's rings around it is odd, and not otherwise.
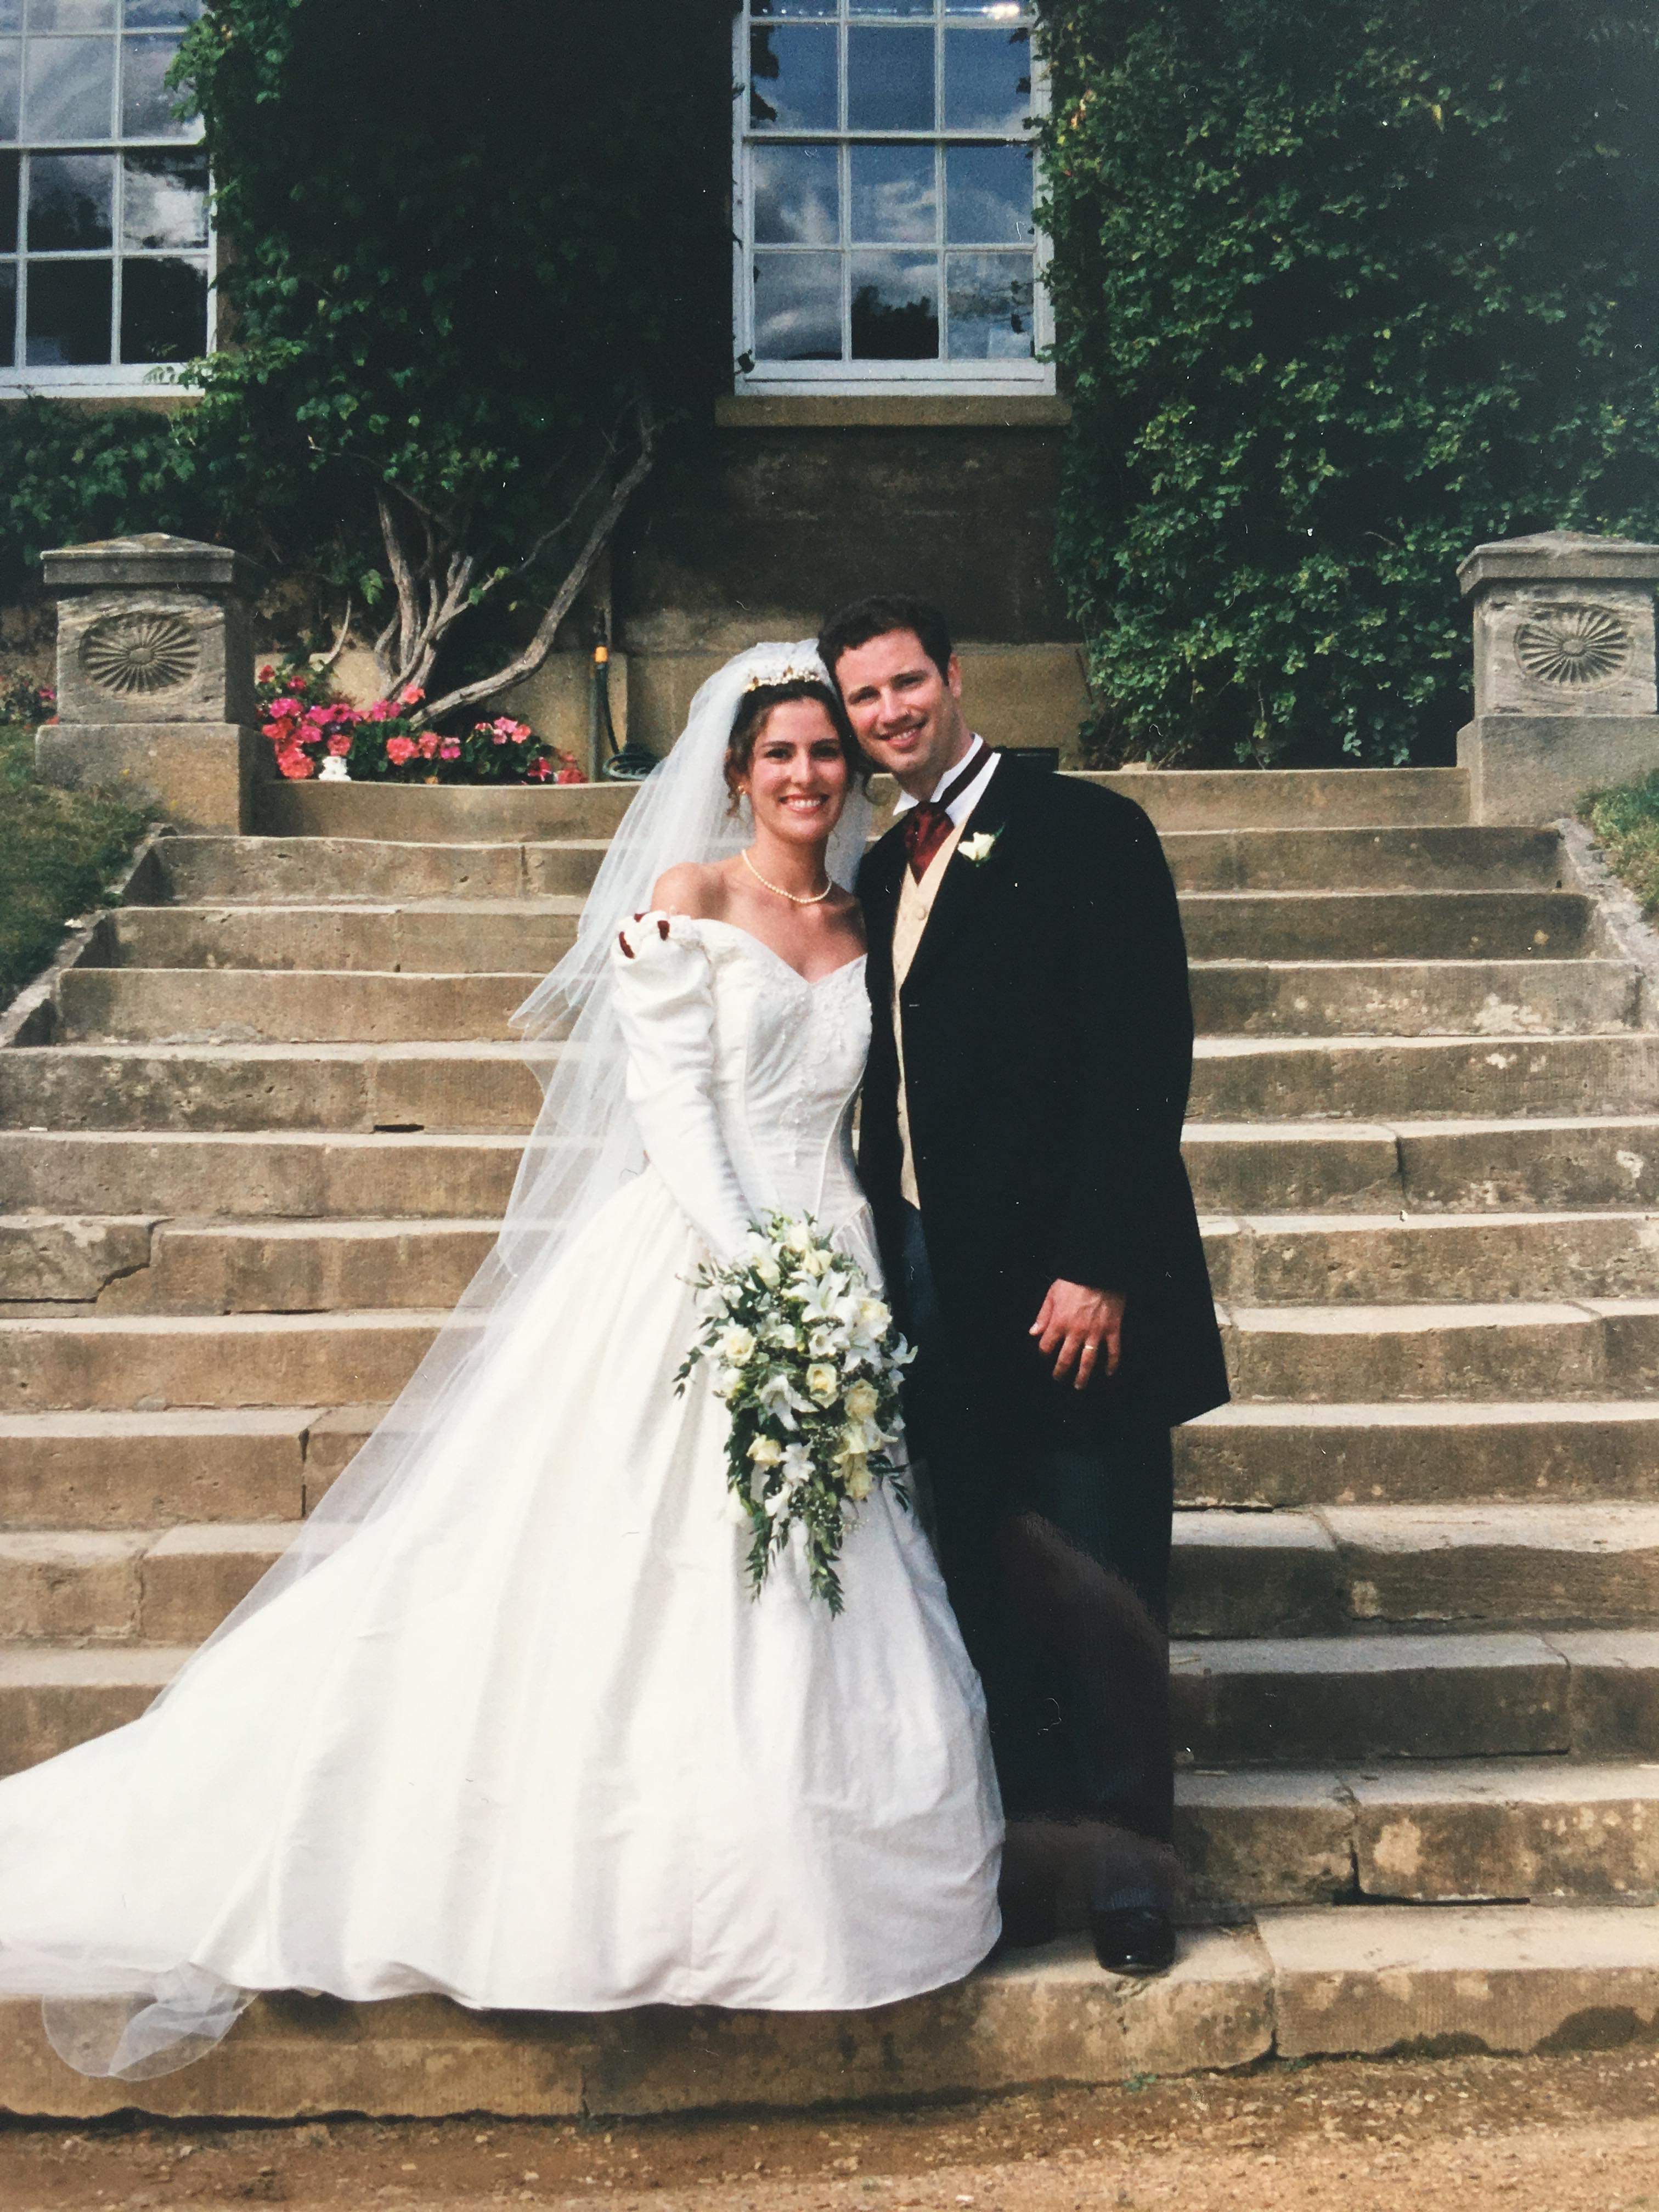
<path fill-rule="evenodd" d="M 1659 2055 L 1398 2059 L 783 2119 L 0 2130 L 0 2205 L 1659 2212 Z"/>

